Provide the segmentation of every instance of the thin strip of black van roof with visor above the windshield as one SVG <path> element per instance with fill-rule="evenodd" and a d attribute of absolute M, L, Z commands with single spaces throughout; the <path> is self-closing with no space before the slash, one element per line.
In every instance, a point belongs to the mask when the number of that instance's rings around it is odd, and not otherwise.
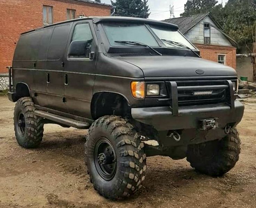
<path fill-rule="evenodd" d="M 74 21 L 79 21 L 79 20 L 83 20 L 83 19 L 92 19 L 93 23 L 97 24 L 99 22 L 104 22 L 104 21 L 120 21 L 120 22 L 137 22 L 137 23 L 147 23 L 147 24 L 154 24 L 154 25 L 163 25 L 163 26 L 168 26 L 168 27 L 173 27 L 174 29 L 178 29 L 177 25 L 171 24 L 171 23 L 166 23 L 163 21 L 157 21 L 157 20 L 152 20 L 152 19 L 144 19 L 144 18 L 135 18 L 135 17 L 118 17 L 118 16 L 106 16 L 106 17 L 84 17 L 84 18 L 77 18 L 77 19 L 71 19 L 71 20 L 66 20 L 66 21 L 62 21 L 62 22 L 58 22 L 58 23 L 54 23 L 51 25 L 45 25 L 39 28 L 35 28 L 32 29 L 30 31 L 21 33 L 21 35 L 26 34 L 26 33 L 30 33 L 33 31 L 37 31 L 46 27 L 52 27 L 55 25 L 60 25 L 63 23 L 68 23 L 68 22 L 74 22 Z"/>

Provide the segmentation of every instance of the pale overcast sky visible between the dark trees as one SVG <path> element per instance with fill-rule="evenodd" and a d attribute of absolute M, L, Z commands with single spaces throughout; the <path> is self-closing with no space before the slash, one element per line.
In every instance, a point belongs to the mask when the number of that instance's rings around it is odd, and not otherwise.
<path fill-rule="evenodd" d="M 179 17 L 179 15 L 184 11 L 184 4 L 187 0 L 148 0 L 151 15 L 150 19 L 164 20 L 170 18 L 169 5 L 174 5 L 174 16 Z M 222 0 L 219 0 L 221 3 Z M 223 0 L 223 5 L 228 0 Z M 110 0 L 101 0 L 102 3 L 111 4 Z"/>

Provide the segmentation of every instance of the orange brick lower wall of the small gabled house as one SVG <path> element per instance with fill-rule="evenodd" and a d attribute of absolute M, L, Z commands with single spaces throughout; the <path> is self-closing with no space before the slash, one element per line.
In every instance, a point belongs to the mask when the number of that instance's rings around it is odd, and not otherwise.
<path fill-rule="evenodd" d="M 195 44 L 195 46 L 200 50 L 203 59 L 218 62 L 218 54 L 225 54 L 226 65 L 234 69 L 237 68 L 237 49 L 235 47 L 200 44 Z"/>

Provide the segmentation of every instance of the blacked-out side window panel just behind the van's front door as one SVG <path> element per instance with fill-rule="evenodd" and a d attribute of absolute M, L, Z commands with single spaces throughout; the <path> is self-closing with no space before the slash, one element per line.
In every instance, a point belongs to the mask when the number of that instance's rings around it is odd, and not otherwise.
<path fill-rule="evenodd" d="M 63 56 L 69 32 L 70 25 L 62 25 L 54 28 L 47 53 L 47 60 L 58 60 Z"/>

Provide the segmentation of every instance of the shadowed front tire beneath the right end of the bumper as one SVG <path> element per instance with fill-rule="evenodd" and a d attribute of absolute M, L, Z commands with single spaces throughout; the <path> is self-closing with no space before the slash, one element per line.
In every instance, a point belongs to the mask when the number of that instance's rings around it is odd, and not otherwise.
<path fill-rule="evenodd" d="M 187 149 L 187 161 L 196 171 L 211 176 L 229 172 L 239 160 L 240 139 L 236 128 L 222 140 L 214 140 Z"/>

